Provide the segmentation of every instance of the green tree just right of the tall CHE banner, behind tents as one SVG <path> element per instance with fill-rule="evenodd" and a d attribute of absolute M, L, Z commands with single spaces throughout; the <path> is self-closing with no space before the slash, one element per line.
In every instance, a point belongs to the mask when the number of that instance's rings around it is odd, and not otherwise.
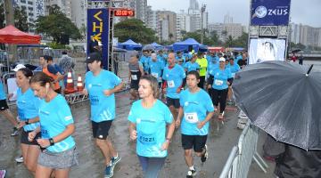
<path fill-rule="evenodd" d="M 155 31 L 146 28 L 142 20 L 128 19 L 120 21 L 114 26 L 114 36 L 119 42 L 127 41 L 129 38 L 140 44 L 151 44 L 157 40 Z"/>

